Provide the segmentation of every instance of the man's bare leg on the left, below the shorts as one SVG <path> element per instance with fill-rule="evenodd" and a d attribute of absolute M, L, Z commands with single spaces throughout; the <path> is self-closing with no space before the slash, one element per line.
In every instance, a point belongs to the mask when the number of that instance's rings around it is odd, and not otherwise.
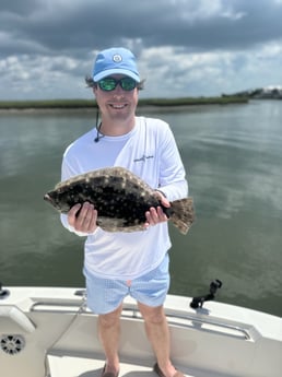
<path fill-rule="evenodd" d="M 98 335 L 106 356 L 106 369 L 115 376 L 119 372 L 119 334 L 122 304 L 114 311 L 98 316 Z"/>

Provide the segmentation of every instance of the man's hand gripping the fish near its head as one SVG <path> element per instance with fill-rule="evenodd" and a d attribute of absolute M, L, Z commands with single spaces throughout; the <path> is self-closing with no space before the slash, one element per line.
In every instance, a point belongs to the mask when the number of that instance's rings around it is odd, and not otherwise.
<path fill-rule="evenodd" d="M 68 222 L 77 232 L 94 233 L 97 228 L 97 211 L 94 205 L 85 202 L 73 205 L 68 213 Z"/>

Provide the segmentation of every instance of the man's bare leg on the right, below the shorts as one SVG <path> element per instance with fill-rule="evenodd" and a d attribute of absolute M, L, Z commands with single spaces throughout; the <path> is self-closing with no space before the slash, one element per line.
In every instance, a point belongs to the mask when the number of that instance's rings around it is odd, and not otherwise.
<path fill-rule="evenodd" d="M 138 304 L 145 322 L 149 341 L 154 350 L 160 369 L 166 377 L 173 377 L 176 369 L 171 362 L 171 337 L 163 306 L 150 307 Z"/>

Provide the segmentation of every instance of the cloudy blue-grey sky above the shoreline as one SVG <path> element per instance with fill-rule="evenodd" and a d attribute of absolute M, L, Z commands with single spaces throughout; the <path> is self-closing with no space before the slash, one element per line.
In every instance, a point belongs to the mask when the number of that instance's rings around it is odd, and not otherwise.
<path fill-rule="evenodd" d="M 0 99 L 91 98 L 113 46 L 137 55 L 145 97 L 282 85 L 282 0 L 1 0 Z"/>

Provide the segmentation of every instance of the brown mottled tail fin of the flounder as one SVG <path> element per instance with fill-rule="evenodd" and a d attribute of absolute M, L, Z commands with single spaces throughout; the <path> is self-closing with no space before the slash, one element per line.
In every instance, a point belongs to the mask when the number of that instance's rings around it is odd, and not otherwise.
<path fill-rule="evenodd" d="M 195 219 L 192 198 L 185 198 L 171 202 L 169 219 L 180 233 L 187 234 Z"/>

